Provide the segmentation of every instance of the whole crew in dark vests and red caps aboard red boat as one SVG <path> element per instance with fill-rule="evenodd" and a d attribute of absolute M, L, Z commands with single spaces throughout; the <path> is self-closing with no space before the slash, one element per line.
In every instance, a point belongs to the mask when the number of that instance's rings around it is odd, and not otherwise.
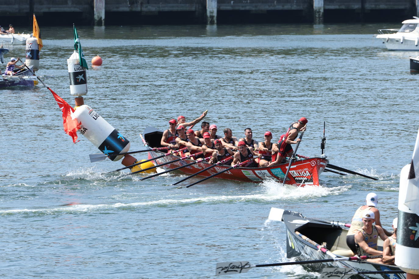
<path fill-rule="evenodd" d="M 264 141 L 258 143 L 253 137 L 251 128 L 245 129 L 245 137 L 239 140 L 233 136 L 230 128 L 224 129 L 224 137 L 217 136 L 217 125 L 209 125 L 207 121 L 203 121 L 201 130 L 194 131 L 186 128 L 189 126 L 199 123 L 207 111 L 191 122 L 186 122 L 184 116 L 179 116 L 178 120 L 169 120 L 169 128 L 163 132 L 163 136 L 160 141 L 161 146 L 167 146 L 168 149 L 178 150 L 187 147 L 187 151 L 183 156 L 193 155 L 202 152 L 202 155 L 196 158 L 207 158 L 209 163 L 215 163 L 221 161 L 228 156 L 234 154 L 232 165 L 241 163 L 243 161 L 253 159 L 253 156 L 259 158 L 249 161 L 244 167 L 266 167 L 274 166 L 283 163 L 286 156 L 292 156 L 293 149 L 291 144 L 296 144 L 301 141 L 297 138 L 298 132 L 305 131 L 307 125 L 307 118 L 302 117 L 297 122 L 291 123 L 288 131 L 283 134 L 278 143 L 272 143 L 272 133 L 266 132 L 264 134 Z M 176 127 L 177 125 L 177 127 Z M 233 152 L 238 151 L 238 152 Z M 195 158 L 195 159 L 196 159 Z"/>

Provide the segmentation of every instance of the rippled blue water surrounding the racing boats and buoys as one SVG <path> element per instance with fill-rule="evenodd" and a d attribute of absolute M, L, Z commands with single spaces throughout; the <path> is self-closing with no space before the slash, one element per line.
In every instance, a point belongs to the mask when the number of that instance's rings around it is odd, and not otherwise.
<path fill-rule="evenodd" d="M 104 174 L 119 162 L 90 163 L 98 149 L 73 144 L 51 93 L 0 91 L 0 276 L 5 278 L 213 278 L 220 261 L 281 262 L 281 223 L 270 207 L 323 220 L 350 221 L 368 192 L 379 197 L 385 228 L 396 216 L 398 179 L 417 133 L 416 85 L 409 56 L 387 51 L 375 25 L 146 26 L 78 28 L 88 61 L 85 103 L 143 148 L 147 126 L 168 128 L 209 110 L 205 120 L 236 137 L 246 127 L 274 140 L 301 116 L 298 149 L 320 155 L 323 121 L 331 164 L 361 172 L 321 175 L 321 187 L 282 187 L 210 179 L 191 188 L 179 174 Z M 40 75 L 74 104 L 66 59 L 72 26 L 43 28 Z M 8 57 L 24 56 L 23 46 Z M 90 64 L 90 63 L 89 63 Z M 4 67 L 4 66 L 3 66 Z M 144 159 L 145 154 L 136 154 Z M 197 179 L 190 179 L 190 182 Z M 186 182 L 185 182 L 186 183 Z M 185 184 L 186 185 L 186 184 Z M 241 278 L 317 278 L 301 266 L 252 269 Z"/>

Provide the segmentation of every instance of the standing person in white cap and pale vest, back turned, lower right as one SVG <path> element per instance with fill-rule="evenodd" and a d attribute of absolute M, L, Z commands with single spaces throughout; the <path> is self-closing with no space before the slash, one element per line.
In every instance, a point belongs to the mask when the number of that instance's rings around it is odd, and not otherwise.
<path fill-rule="evenodd" d="M 372 211 L 375 215 L 375 225 L 379 225 L 381 227 L 380 222 L 380 211 L 378 211 L 377 206 L 378 197 L 375 193 L 369 193 L 365 199 L 366 205 L 360 206 L 357 211 L 355 211 L 354 217 L 352 217 L 351 227 L 346 236 L 346 244 L 348 247 L 354 252 L 357 253 L 357 249 L 355 248 L 354 242 L 354 235 L 357 232 L 357 229 L 362 227 L 362 216 L 365 215 L 365 212 Z M 391 232 L 384 230 L 385 235 L 390 236 Z"/>

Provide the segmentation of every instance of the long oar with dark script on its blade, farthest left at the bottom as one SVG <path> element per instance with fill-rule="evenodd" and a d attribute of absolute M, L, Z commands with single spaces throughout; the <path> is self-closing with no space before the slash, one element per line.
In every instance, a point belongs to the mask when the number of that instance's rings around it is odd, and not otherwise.
<path fill-rule="evenodd" d="M 250 264 L 248 261 L 228 261 L 225 263 L 217 263 L 217 266 L 215 269 L 215 275 L 246 273 L 247 271 L 249 271 L 249 269 L 254 268 L 254 267 L 288 266 L 288 265 L 293 265 L 293 264 L 316 264 L 316 263 L 327 263 L 327 262 L 333 262 L 333 261 L 360 261 L 360 260 L 366 260 L 366 259 L 380 258 L 382 256 L 383 255 L 353 256 L 353 257 L 321 259 L 321 260 L 311 260 L 311 261 L 290 261 L 290 262 L 276 263 L 276 264 Z"/>

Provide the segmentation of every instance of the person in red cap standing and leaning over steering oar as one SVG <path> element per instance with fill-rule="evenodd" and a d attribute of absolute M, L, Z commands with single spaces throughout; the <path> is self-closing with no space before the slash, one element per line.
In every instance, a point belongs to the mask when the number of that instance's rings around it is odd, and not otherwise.
<path fill-rule="evenodd" d="M 302 117 L 298 122 L 294 122 L 288 128 L 287 133 L 282 137 L 282 140 L 278 143 L 279 151 L 278 156 L 275 160 L 269 163 L 269 166 L 275 166 L 282 163 L 282 159 L 286 156 L 291 157 L 294 151 L 292 150 L 291 144 L 296 144 L 301 141 L 300 138 L 297 138 L 298 132 L 305 131 L 305 125 L 308 120 L 305 117 Z M 297 139 L 296 139 L 297 138 Z"/>

